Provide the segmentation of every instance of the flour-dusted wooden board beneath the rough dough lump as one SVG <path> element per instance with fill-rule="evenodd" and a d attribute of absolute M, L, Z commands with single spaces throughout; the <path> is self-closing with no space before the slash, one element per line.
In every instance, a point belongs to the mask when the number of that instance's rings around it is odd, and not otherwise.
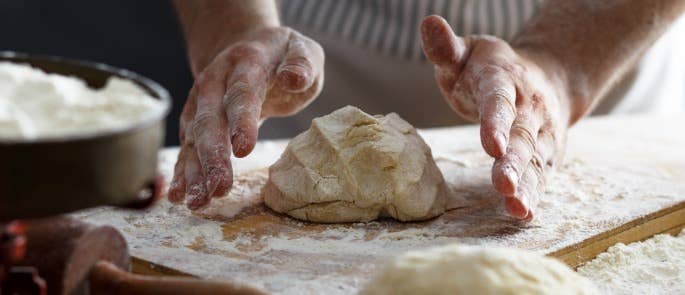
<path fill-rule="evenodd" d="M 284 294 L 349 294 L 388 257 L 448 243 L 529 249 L 576 267 L 616 242 L 683 227 L 684 127 L 682 117 L 583 121 L 528 224 L 504 213 L 477 127 L 421 132 L 452 190 L 453 209 L 431 221 L 320 225 L 268 210 L 259 198 L 264 168 L 286 141 L 260 142 L 236 160 L 233 191 L 201 213 L 161 202 L 146 212 L 97 208 L 76 216 L 121 230 L 136 272 L 232 278 Z M 176 153 L 160 155 L 167 177 Z"/>

